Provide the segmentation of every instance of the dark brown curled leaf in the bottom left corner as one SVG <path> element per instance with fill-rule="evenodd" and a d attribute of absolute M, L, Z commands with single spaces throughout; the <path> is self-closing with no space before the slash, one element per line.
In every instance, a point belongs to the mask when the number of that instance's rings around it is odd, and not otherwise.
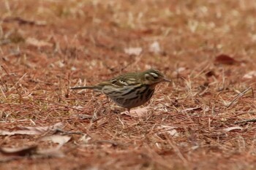
<path fill-rule="evenodd" d="M 33 155 L 37 152 L 37 145 L 29 146 L 29 147 L 1 147 L 0 152 L 4 155 L 18 155 L 18 156 L 26 156 Z"/>

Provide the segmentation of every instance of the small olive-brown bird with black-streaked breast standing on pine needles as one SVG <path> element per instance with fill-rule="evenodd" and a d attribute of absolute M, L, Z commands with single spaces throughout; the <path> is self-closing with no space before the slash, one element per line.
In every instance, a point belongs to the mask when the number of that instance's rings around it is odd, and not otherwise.
<path fill-rule="evenodd" d="M 124 107 L 129 112 L 151 99 L 156 85 L 160 82 L 171 82 L 164 74 L 156 69 L 145 72 L 129 72 L 121 74 L 97 85 L 69 88 L 71 90 L 91 89 L 105 94 L 114 103 Z"/>

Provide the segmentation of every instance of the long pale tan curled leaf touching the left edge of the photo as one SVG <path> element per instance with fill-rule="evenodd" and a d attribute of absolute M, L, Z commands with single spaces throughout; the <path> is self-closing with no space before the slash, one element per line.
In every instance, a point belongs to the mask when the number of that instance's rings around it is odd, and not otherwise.
<path fill-rule="evenodd" d="M 56 131 L 57 129 L 63 128 L 62 123 L 56 123 L 51 126 L 39 126 L 39 127 L 22 127 L 18 126 L 14 128 L 14 131 L 1 131 L 0 135 L 15 135 L 15 134 L 28 134 L 28 135 L 39 135 L 45 134 L 48 131 Z"/>

